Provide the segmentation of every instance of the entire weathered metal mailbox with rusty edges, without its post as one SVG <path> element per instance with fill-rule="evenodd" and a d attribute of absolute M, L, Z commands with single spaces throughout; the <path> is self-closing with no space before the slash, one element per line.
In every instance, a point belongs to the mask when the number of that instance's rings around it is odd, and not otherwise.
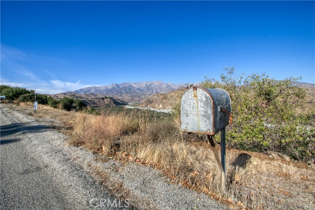
<path fill-rule="evenodd" d="M 215 135 L 232 123 L 231 99 L 222 89 L 192 87 L 181 99 L 181 129 Z"/>

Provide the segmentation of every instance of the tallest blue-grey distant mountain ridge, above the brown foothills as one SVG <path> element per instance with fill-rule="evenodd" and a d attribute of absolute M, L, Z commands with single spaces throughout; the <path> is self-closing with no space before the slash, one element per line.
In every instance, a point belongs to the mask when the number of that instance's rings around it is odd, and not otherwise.
<path fill-rule="evenodd" d="M 173 83 L 163 83 L 161 81 L 111 84 L 109 86 L 88 87 L 73 92 L 78 94 L 102 94 L 120 98 L 127 102 L 139 102 L 145 97 L 155 93 L 167 93 L 177 90 L 185 85 Z"/>

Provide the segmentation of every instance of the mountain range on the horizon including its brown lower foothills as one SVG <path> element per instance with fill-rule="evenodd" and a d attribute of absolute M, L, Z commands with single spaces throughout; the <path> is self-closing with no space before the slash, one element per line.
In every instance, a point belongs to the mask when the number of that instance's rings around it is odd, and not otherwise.
<path fill-rule="evenodd" d="M 193 84 L 199 85 L 199 84 Z M 306 90 L 310 106 L 315 103 L 315 84 L 296 82 L 294 85 Z M 161 81 L 111 84 L 109 86 L 88 87 L 51 95 L 53 98 L 72 97 L 83 99 L 88 106 L 126 105 L 127 102 L 140 102 L 140 106 L 170 108 L 180 99 L 187 85 L 163 83 Z"/>

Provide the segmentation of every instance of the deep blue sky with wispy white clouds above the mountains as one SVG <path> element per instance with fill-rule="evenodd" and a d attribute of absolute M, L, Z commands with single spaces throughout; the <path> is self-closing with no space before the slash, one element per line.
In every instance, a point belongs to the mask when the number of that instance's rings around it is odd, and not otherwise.
<path fill-rule="evenodd" d="M 315 83 L 315 1 L 0 1 L 1 84 L 59 93 L 265 72 Z"/>

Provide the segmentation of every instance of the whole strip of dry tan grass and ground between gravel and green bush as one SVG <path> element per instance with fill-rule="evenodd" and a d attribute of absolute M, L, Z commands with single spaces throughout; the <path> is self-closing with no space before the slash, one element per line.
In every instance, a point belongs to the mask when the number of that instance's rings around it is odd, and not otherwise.
<path fill-rule="evenodd" d="M 233 209 L 315 205 L 314 169 L 255 152 L 226 151 L 226 190 L 222 191 L 220 169 L 210 146 L 184 138 L 178 122 L 149 122 L 141 113 L 93 116 L 47 106 L 39 106 L 33 116 L 38 120 L 57 119 L 64 127 L 72 127 L 66 133 L 71 136 L 71 144 L 84 145 L 124 162 L 157 167 L 171 183 L 206 193 Z"/>

